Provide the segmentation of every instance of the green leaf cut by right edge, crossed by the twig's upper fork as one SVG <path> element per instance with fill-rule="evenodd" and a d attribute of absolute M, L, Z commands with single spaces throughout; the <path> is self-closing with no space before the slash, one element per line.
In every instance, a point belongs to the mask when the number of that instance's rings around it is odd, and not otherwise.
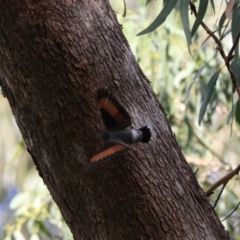
<path fill-rule="evenodd" d="M 232 15 L 232 38 L 233 38 L 233 43 L 235 42 L 238 33 L 240 31 L 240 25 L 239 25 L 239 19 L 240 19 L 240 6 L 235 8 L 233 10 L 233 15 Z M 239 57 L 239 40 L 237 43 L 237 46 L 234 49 L 235 52 L 235 58 L 237 62 L 240 62 L 240 57 Z"/>

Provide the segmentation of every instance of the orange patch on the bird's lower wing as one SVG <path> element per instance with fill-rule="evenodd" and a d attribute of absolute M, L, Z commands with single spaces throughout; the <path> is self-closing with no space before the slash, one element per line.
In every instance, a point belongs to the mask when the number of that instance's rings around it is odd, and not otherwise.
<path fill-rule="evenodd" d="M 111 157 L 114 154 L 121 153 L 121 152 L 126 151 L 128 149 L 129 149 L 129 147 L 127 145 L 118 143 L 116 145 L 110 146 L 109 148 L 105 148 L 103 150 L 100 150 L 97 154 L 95 154 L 91 158 L 91 162 L 98 162 L 100 160 L 103 160 L 104 158 Z"/>

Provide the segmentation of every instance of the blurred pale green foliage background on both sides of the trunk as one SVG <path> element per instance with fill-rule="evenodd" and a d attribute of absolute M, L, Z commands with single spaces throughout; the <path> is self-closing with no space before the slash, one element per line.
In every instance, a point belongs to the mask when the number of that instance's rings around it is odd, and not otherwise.
<path fill-rule="evenodd" d="M 180 15 L 173 11 L 156 31 L 136 36 L 156 18 L 162 1 L 110 1 L 143 72 L 165 108 L 182 151 L 204 190 L 239 165 L 240 131 L 233 111 L 237 102 L 229 72 L 216 44 L 200 27 L 189 54 Z M 204 22 L 217 30 L 225 11 L 223 1 L 208 7 Z M 190 16 L 191 26 L 194 16 Z M 232 46 L 230 26 L 221 40 L 226 53 Z M 216 31 L 218 36 L 218 32 Z M 221 70 L 216 89 L 198 124 L 204 91 L 211 76 Z M 26 151 L 8 101 L 0 95 L 0 239 L 72 239 L 56 204 Z M 214 205 L 221 187 L 211 195 Z M 226 186 L 216 206 L 221 219 L 239 203 L 239 176 Z M 240 210 L 223 221 L 231 239 L 240 240 Z"/>

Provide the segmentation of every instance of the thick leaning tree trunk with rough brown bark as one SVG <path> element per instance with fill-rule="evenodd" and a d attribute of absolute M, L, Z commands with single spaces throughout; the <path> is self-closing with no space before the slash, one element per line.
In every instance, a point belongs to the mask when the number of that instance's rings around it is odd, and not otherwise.
<path fill-rule="evenodd" d="M 6 95 L 74 239 L 229 239 L 108 1 L 0 0 L 0 11 Z M 88 169 L 104 86 L 152 138 Z"/>

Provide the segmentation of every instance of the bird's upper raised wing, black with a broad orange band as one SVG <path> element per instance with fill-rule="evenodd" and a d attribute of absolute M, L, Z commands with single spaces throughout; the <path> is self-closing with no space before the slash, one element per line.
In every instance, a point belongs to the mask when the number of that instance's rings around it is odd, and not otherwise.
<path fill-rule="evenodd" d="M 98 89 L 97 101 L 103 122 L 109 131 L 119 131 L 132 124 L 128 112 L 119 104 L 107 88 Z"/>

